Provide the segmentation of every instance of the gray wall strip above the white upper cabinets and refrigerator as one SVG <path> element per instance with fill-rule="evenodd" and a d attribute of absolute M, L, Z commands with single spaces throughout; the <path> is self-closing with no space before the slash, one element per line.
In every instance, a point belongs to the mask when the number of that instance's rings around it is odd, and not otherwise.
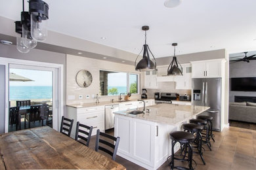
<path fill-rule="evenodd" d="M 177 56 L 179 63 L 189 63 L 190 61 L 200 61 L 200 60 L 207 60 L 207 59 L 220 59 L 225 58 L 226 50 L 213 50 L 207 52 L 196 52 L 192 54 L 184 54 Z M 165 57 L 165 58 L 157 58 L 157 65 L 169 65 L 172 60 L 172 56 Z"/>

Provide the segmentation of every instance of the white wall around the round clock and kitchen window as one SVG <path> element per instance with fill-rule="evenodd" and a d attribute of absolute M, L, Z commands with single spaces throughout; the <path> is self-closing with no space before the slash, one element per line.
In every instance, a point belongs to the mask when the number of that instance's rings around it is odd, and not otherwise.
<path fill-rule="evenodd" d="M 140 73 L 135 71 L 133 65 L 125 65 L 123 63 L 114 63 L 110 61 L 102 61 L 99 59 L 83 58 L 80 56 L 67 55 L 66 61 L 66 103 L 67 105 L 76 103 L 91 103 L 96 100 L 92 98 L 92 95 L 96 95 L 100 92 L 100 69 L 110 71 L 121 71 L 128 73 Z M 76 81 L 75 76 L 81 69 L 89 71 L 93 76 L 93 82 L 91 86 L 87 88 L 80 88 Z M 140 88 L 139 88 L 140 90 Z M 68 99 L 69 95 L 74 95 L 75 99 Z M 78 99 L 79 95 L 83 95 L 83 99 Z M 86 99 L 86 95 L 90 95 L 90 99 Z M 139 98 L 140 95 L 131 95 L 131 99 Z M 110 99 L 117 100 L 117 96 L 101 96 L 100 101 L 110 101 Z"/>

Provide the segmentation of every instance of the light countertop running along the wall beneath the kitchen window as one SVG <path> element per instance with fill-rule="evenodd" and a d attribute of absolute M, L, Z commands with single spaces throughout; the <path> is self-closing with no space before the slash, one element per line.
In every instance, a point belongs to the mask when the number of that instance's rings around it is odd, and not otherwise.
<path fill-rule="evenodd" d="M 149 100 L 148 99 L 142 99 L 142 100 Z M 68 107 L 75 107 L 75 108 L 84 108 L 84 107 L 96 107 L 96 106 L 105 106 L 105 105 L 117 105 L 119 103 L 126 103 L 126 102 L 131 102 L 131 101 L 137 101 L 138 99 L 131 99 L 128 101 L 114 101 L 113 103 L 111 101 L 100 101 L 100 103 L 96 104 L 95 102 L 93 103 L 83 103 L 83 104 L 74 104 L 74 105 L 67 105 Z"/>

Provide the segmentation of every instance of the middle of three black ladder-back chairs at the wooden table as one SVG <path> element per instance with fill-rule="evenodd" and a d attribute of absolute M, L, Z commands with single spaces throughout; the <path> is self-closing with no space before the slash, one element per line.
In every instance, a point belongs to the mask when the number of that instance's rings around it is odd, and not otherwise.
<path fill-rule="evenodd" d="M 93 126 L 90 127 L 77 122 L 75 129 L 75 141 L 85 144 L 85 146 L 89 146 L 92 131 Z"/>

